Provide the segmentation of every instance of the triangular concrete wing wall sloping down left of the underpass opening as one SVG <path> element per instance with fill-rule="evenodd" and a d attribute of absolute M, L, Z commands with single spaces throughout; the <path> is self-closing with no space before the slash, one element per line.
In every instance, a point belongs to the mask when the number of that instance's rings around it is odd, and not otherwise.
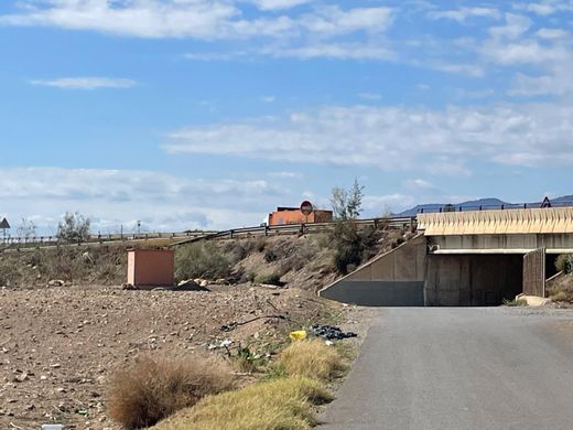
<path fill-rule="evenodd" d="M 423 307 L 425 262 L 425 237 L 420 235 L 326 287 L 320 295 L 367 307 Z"/>

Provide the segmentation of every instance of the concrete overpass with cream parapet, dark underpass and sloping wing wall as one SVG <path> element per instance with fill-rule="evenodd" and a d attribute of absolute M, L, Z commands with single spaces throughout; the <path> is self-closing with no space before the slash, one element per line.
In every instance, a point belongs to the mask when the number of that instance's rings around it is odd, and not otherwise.
<path fill-rule="evenodd" d="M 418 236 L 323 289 L 364 305 L 494 305 L 544 295 L 573 252 L 573 207 L 418 215 Z"/>

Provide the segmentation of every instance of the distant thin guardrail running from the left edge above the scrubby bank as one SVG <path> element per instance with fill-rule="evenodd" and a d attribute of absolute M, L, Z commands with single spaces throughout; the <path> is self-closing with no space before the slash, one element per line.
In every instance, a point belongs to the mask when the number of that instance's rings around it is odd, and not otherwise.
<path fill-rule="evenodd" d="M 214 230 L 201 232 L 177 232 L 177 233 L 130 233 L 130 234 L 106 234 L 89 235 L 85 240 L 75 241 L 74 245 L 86 244 L 109 244 L 117 241 L 145 241 L 154 239 L 177 239 L 177 238 L 195 238 L 204 237 L 216 233 Z M 71 241 L 62 240 L 57 236 L 34 236 L 34 237 L 11 237 L 0 238 L 0 247 L 20 248 L 20 247 L 39 247 L 39 246 L 58 246 L 71 245 Z"/>

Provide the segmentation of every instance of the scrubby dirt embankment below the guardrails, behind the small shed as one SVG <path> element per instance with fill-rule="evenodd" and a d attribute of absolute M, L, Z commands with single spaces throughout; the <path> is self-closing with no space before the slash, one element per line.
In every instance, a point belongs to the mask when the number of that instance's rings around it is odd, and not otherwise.
<path fill-rule="evenodd" d="M 408 234 L 382 228 L 375 237 L 364 251 L 365 258 L 390 249 Z M 317 291 L 339 277 L 334 265 L 335 246 L 328 234 L 253 237 L 209 245 L 228 265 L 225 278 L 230 283 L 268 283 L 266 281 L 275 278 L 285 287 Z M 0 252 L 0 287 L 45 287 L 55 280 L 67 286 L 122 284 L 127 273 L 127 247 L 64 246 Z M 185 246 L 176 248 L 176 252 L 185 252 Z"/>

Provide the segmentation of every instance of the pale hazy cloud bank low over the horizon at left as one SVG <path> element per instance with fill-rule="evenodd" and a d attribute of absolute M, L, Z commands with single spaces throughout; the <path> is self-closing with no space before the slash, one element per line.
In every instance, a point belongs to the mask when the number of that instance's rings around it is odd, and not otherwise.
<path fill-rule="evenodd" d="M 258 225 L 277 202 L 290 197 L 263 180 L 190 180 L 151 171 L 0 169 L 2 209 L 10 219 L 33 218 L 54 233 L 65 212 L 94 219 L 109 232 L 141 219 L 148 229 L 233 228 Z"/>

